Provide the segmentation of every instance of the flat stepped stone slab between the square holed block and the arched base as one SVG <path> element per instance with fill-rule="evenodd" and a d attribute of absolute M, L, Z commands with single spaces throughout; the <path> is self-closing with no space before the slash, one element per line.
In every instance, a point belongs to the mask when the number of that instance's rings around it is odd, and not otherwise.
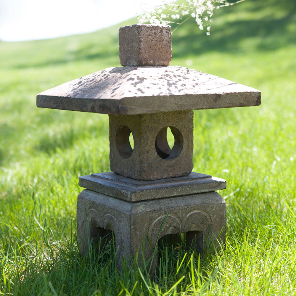
<path fill-rule="evenodd" d="M 225 189 L 226 181 L 200 173 L 138 181 L 108 172 L 79 177 L 79 186 L 121 200 L 136 202 Z"/>

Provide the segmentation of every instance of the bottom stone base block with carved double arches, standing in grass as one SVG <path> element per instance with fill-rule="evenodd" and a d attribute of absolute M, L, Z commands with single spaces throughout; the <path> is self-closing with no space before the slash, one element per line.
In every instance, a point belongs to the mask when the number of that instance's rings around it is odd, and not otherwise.
<path fill-rule="evenodd" d="M 219 249 L 225 242 L 225 220 L 225 200 L 217 192 L 127 202 L 86 189 L 77 199 L 77 239 L 81 254 L 85 254 L 89 239 L 95 243 L 112 230 L 119 266 L 123 255 L 132 260 L 137 251 L 141 260 L 142 242 L 145 260 L 151 258 L 153 251 L 147 236 L 155 250 L 161 237 L 177 233 L 186 233 L 188 247 L 192 245 L 197 252 L 208 251 L 205 247 L 211 244 Z M 153 267 L 156 265 L 157 253 Z"/>

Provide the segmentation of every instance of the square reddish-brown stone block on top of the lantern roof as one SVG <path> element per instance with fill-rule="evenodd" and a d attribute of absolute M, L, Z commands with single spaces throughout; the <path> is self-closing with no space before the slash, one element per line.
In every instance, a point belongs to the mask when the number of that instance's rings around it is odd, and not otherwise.
<path fill-rule="evenodd" d="M 131 25 L 119 29 L 122 66 L 168 66 L 172 60 L 169 25 Z"/>

